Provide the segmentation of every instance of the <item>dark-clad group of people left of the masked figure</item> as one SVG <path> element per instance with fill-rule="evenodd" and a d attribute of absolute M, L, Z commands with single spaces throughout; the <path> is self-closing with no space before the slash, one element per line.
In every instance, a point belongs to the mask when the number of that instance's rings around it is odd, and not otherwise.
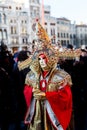
<path fill-rule="evenodd" d="M 27 53 L 13 55 L 5 44 L 0 46 L 0 130 L 26 130 L 23 89 L 29 67 L 19 71 L 17 64 L 28 58 Z"/>

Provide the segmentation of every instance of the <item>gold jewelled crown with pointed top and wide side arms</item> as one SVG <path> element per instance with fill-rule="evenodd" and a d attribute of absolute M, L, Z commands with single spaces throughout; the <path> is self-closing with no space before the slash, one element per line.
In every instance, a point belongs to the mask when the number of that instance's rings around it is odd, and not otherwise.
<path fill-rule="evenodd" d="M 41 24 L 39 22 L 38 22 L 37 36 L 38 36 L 39 40 L 42 41 L 42 43 L 40 43 L 40 46 L 38 46 L 37 50 L 35 50 L 35 52 L 33 52 L 33 55 L 31 58 L 28 58 L 25 61 L 18 63 L 19 70 L 22 70 L 22 69 L 28 67 L 32 63 L 32 61 L 36 58 L 35 55 L 37 55 L 37 53 L 39 54 L 40 51 L 48 53 L 49 56 L 53 55 L 54 59 L 55 59 L 55 57 L 73 59 L 73 58 L 79 57 L 81 55 L 81 49 L 75 49 L 75 50 L 67 49 L 67 50 L 64 50 L 63 52 L 56 50 L 52 46 L 51 40 L 50 40 L 46 30 L 41 26 Z"/>

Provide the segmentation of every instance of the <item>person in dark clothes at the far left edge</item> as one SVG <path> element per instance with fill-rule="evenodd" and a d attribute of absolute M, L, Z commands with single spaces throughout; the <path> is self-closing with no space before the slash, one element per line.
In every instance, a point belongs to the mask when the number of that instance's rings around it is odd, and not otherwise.
<path fill-rule="evenodd" d="M 10 130 L 16 120 L 16 100 L 12 78 L 14 62 L 4 43 L 0 48 L 0 128 L 1 130 Z"/>

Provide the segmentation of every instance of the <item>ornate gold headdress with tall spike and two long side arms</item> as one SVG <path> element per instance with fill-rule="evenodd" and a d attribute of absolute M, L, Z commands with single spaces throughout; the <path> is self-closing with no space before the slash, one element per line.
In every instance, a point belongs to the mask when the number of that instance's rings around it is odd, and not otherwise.
<path fill-rule="evenodd" d="M 37 61 L 37 58 L 40 53 L 44 53 L 46 56 L 49 57 L 48 60 L 50 66 L 53 66 L 55 63 L 57 63 L 58 58 L 72 59 L 80 56 L 81 54 L 80 49 L 64 50 L 63 52 L 60 52 L 58 49 L 56 50 L 54 46 L 51 44 L 51 39 L 49 38 L 46 30 L 41 26 L 39 22 L 37 23 L 37 25 L 38 25 L 37 36 L 39 45 L 37 46 L 37 49 L 34 51 L 32 57 L 18 64 L 19 70 L 24 69 L 31 64 L 34 65 L 34 62 Z M 38 64 L 36 64 L 36 66 L 38 66 Z"/>

